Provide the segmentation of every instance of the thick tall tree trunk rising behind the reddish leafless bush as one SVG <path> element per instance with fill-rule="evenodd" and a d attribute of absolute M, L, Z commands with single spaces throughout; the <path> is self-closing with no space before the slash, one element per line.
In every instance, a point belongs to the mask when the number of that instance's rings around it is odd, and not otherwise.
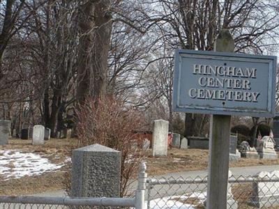
<path fill-rule="evenodd" d="M 110 1 L 87 1 L 80 6 L 80 48 L 77 69 L 77 101 L 102 98 L 107 87 L 107 57 L 112 16 Z"/>

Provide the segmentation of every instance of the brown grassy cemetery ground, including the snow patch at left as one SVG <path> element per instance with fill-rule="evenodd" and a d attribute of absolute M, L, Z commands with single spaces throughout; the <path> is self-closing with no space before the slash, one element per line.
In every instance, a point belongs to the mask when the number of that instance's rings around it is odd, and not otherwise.
<path fill-rule="evenodd" d="M 31 140 L 10 139 L 0 146 L 0 195 L 37 194 L 64 189 L 70 148 L 76 139 L 50 139 L 43 146 L 32 146 Z M 149 176 L 179 171 L 206 169 L 208 150 L 172 148 L 167 157 L 152 157 L 146 153 Z M 230 167 L 279 164 L 277 160 L 241 158 Z M 32 166 L 33 165 L 33 166 Z"/>

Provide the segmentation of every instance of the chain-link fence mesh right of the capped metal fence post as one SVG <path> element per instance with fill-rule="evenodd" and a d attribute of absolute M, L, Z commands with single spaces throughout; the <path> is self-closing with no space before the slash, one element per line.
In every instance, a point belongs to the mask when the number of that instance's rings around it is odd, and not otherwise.
<path fill-rule="evenodd" d="M 148 178 L 147 209 L 205 208 L 207 177 Z M 258 176 L 230 175 L 227 209 L 278 208 L 278 173 L 262 172 Z"/>

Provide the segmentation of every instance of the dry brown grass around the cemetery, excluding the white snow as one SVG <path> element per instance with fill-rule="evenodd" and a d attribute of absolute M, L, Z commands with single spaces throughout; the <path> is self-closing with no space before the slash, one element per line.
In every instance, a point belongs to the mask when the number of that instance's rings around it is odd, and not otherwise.
<path fill-rule="evenodd" d="M 70 157 L 69 148 L 75 146 L 75 139 L 50 139 L 43 146 L 32 146 L 31 140 L 10 139 L 9 144 L 0 146 L 1 150 L 17 149 L 21 152 L 38 153 L 47 157 L 52 163 L 60 163 Z M 144 157 L 147 162 L 149 176 L 174 173 L 179 171 L 195 171 L 207 168 L 208 150 L 172 148 L 167 157 L 152 157 L 151 150 Z M 247 167 L 257 165 L 279 164 L 278 160 L 255 160 L 241 158 L 230 167 Z M 13 162 L 10 163 L 13 166 Z M 63 169 L 66 169 L 64 167 Z M 24 177 L 3 181 L 0 179 L 0 195 L 37 194 L 40 192 L 63 189 L 65 173 L 44 173 L 41 176 Z M 233 188 L 234 189 L 234 188 Z M 241 190 L 239 190 L 241 191 Z M 237 195 L 237 194 L 236 194 Z M 242 195 L 241 195 L 242 196 Z"/>

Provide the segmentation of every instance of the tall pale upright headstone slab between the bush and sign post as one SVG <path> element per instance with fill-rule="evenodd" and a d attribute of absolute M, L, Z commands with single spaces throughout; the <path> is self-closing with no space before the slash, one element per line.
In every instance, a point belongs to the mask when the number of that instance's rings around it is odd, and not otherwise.
<path fill-rule="evenodd" d="M 167 156 L 167 136 L 169 132 L 169 121 L 154 121 L 153 127 L 153 156 Z"/>

